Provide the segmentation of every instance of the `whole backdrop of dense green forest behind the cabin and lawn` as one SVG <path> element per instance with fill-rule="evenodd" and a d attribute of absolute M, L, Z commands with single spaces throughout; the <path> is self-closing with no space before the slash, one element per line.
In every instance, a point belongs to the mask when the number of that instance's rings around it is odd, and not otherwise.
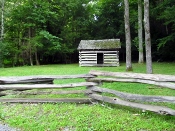
<path fill-rule="evenodd" d="M 129 2 L 132 59 L 138 61 L 138 1 Z M 4 34 L 0 66 L 77 62 L 81 39 L 120 38 L 120 60 L 125 60 L 123 0 L 2 0 L 0 4 Z M 154 61 L 175 59 L 174 4 L 150 1 Z"/>

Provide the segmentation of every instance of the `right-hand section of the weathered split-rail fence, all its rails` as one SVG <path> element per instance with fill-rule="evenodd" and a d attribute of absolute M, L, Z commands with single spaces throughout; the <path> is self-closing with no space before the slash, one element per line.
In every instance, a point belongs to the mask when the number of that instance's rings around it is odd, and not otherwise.
<path fill-rule="evenodd" d="M 129 82 L 129 83 L 144 83 L 161 86 L 164 88 L 175 89 L 175 76 L 172 75 L 157 75 L 157 74 L 141 74 L 141 73 L 120 73 L 120 72 L 106 72 L 106 71 L 90 71 L 91 75 L 97 76 L 96 78 L 87 79 L 88 82 Z M 103 76 L 105 78 L 98 78 Z M 148 104 L 141 104 L 136 102 L 167 102 L 175 103 L 175 97 L 173 96 L 151 96 L 151 95 L 139 95 L 120 92 L 107 88 L 101 88 L 93 86 L 90 88 L 90 98 L 95 100 L 118 104 L 123 106 L 134 107 L 142 110 L 148 110 L 159 114 L 175 115 L 175 110 L 162 106 L 154 106 Z M 103 96 L 99 93 L 111 93 L 117 97 Z M 128 101 L 129 100 L 129 101 Z M 130 101 L 136 102 L 130 102 Z"/>

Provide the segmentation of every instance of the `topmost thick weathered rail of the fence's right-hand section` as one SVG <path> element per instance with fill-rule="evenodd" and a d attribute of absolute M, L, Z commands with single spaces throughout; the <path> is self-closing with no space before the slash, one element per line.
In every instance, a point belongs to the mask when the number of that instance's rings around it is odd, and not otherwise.
<path fill-rule="evenodd" d="M 134 78 L 143 80 L 175 82 L 174 75 L 123 73 L 123 72 L 107 72 L 107 71 L 94 71 L 94 70 L 90 71 L 89 74 L 96 76 L 111 76 L 111 77 L 127 78 L 127 79 Z"/>

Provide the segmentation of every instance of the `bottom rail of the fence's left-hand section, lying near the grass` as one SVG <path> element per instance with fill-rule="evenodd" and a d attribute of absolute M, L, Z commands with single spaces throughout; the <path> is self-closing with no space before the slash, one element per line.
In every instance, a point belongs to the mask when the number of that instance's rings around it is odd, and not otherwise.
<path fill-rule="evenodd" d="M 2 98 L 0 102 L 7 103 L 62 103 L 62 102 L 71 102 L 71 103 L 91 103 L 94 100 L 90 98 Z"/>

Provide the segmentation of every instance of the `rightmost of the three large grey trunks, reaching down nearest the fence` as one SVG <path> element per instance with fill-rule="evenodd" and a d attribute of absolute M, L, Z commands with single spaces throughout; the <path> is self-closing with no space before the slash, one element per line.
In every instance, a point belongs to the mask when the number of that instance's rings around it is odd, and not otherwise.
<path fill-rule="evenodd" d="M 145 46 L 146 46 L 146 70 L 148 74 L 153 73 L 151 56 L 151 36 L 149 23 L 149 0 L 144 0 L 144 24 L 145 24 Z"/>

